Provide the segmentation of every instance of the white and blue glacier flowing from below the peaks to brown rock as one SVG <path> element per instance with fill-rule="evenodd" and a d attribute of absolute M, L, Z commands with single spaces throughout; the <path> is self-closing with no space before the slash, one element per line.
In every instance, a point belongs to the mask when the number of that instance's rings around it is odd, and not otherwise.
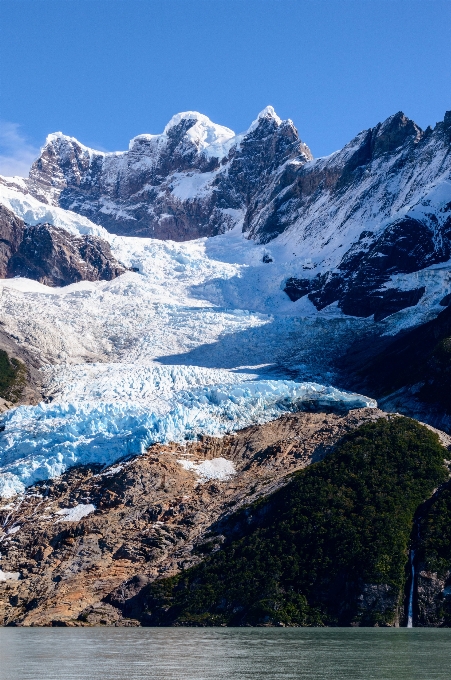
<path fill-rule="evenodd" d="M 326 324 L 315 310 L 295 318 L 299 305 L 281 288 L 284 265 L 268 268 L 264 247 L 239 231 L 185 243 L 112 236 L 75 213 L 2 192 L 29 224 L 95 233 L 139 270 L 65 288 L 0 281 L 0 322 L 44 361 L 51 399 L 3 416 L 2 495 L 76 463 L 111 464 L 152 442 L 222 434 L 306 403 L 375 405 L 300 382 L 321 370 L 329 383 L 327 345 L 364 322 L 332 312 Z"/>

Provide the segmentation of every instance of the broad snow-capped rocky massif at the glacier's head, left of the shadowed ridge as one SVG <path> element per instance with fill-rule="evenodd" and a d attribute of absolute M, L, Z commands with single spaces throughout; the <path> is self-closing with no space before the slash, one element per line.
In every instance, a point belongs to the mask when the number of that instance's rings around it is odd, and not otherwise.
<path fill-rule="evenodd" d="M 292 121 L 266 107 L 236 135 L 187 111 L 161 134 L 104 153 L 62 133 L 49 135 L 27 190 L 81 213 L 108 231 L 184 241 L 213 236 L 243 220 L 257 194 L 287 161 L 312 160 Z"/>

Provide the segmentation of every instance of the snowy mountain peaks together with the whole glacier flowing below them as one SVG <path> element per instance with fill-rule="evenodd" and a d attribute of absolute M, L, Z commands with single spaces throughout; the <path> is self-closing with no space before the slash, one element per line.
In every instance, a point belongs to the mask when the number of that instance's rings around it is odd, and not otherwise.
<path fill-rule="evenodd" d="M 105 239 L 129 271 L 0 281 L 2 328 L 44 364 L 49 402 L 3 417 L 3 493 L 306 401 L 372 403 L 330 387 L 334 366 L 447 304 L 450 144 L 451 112 L 424 131 L 399 112 L 313 159 L 272 107 L 241 135 L 177 114 L 125 152 L 50 135 L 0 203 Z"/>

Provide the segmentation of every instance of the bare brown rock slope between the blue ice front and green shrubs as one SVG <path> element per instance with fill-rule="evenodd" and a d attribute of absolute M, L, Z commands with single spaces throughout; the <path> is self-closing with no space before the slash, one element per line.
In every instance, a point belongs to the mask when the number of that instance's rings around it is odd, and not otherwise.
<path fill-rule="evenodd" d="M 0 621 L 138 625 L 139 591 L 215 550 L 221 536 L 212 543 L 209 531 L 221 519 L 380 417 L 378 409 L 286 415 L 224 438 L 156 445 L 106 470 L 73 468 L 28 489 L 0 509 L 1 569 L 16 574 L 0 580 Z"/>

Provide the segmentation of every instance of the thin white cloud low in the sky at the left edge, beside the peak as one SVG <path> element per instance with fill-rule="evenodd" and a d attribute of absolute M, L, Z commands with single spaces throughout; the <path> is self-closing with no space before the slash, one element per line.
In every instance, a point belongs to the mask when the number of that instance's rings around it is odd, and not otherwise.
<path fill-rule="evenodd" d="M 20 133 L 20 125 L 0 121 L 0 175 L 28 177 L 31 164 L 39 156 L 39 148 Z"/>

